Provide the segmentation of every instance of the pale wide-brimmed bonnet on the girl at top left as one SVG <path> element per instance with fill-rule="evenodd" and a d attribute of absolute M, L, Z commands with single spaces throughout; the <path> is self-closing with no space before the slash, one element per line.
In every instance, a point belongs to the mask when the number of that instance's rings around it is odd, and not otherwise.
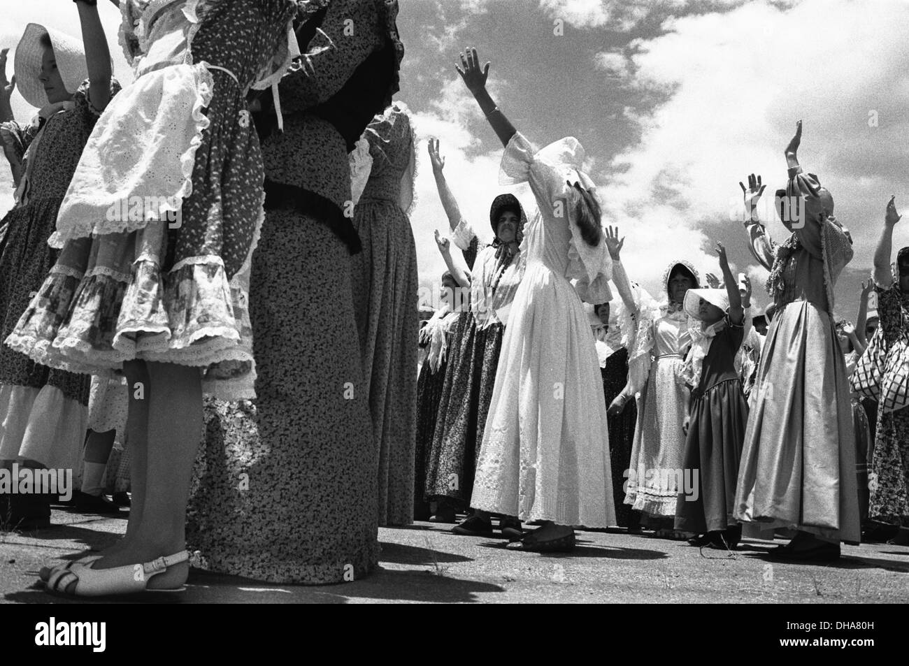
<path fill-rule="evenodd" d="M 50 35 L 51 45 L 54 46 L 57 69 L 63 78 L 66 92 L 75 93 L 88 78 L 85 49 L 80 40 L 54 28 L 45 28 L 44 25 L 26 25 L 25 34 L 15 47 L 15 86 L 28 104 L 39 109 L 50 104 L 45 86 L 39 80 L 41 59 L 45 52 L 41 36 L 45 33 Z"/>

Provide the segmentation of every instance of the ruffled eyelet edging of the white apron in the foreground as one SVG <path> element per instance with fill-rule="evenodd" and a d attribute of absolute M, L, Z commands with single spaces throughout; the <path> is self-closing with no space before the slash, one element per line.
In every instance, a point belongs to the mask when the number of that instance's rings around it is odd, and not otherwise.
<path fill-rule="evenodd" d="M 189 145 L 184 153 L 180 155 L 180 171 L 183 175 L 183 184 L 180 185 L 180 188 L 173 196 L 161 197 L 159 199 L 161 203 L 158 206 L 157 217 L 146 217 L 144 215 L 142 220 L 126 219 L 110 221 L 106 219 L 106 215 L 102 212 L 102 214 L 97 215 L 97 217 L 86 217 L 84 220 L 75 220 L 71 224 L 66 224 L 66 231 L 60 229 L 58 220 L 57 230 L 54 234 L 51 234 L 51 237 L 47 240 L 48 245 L 56 249 L 61 249 L 66 241 L 75 238 L 135 232 L 139 229 L 144 229 L 149 222 L 166 220 L 168 214 L 177 213 L 183 208 L 185 198 L 193 193 L 193 167 L 195 166 L 195 154 L 199 150 L 199 146 L 202 145 L 205 130 L 211 124 L 211 120 L 205 114 L 205 109 L 211 104 L 215 94 L 215 78 L 213 77 L 211 70 L 209 70 L 204 63 L 191 66 L 195 69 L 195 75 L 197 76 L 195 102 L 193 103 L 192 109 L 192 117 L 195 122 L 195 134 L 193 134 L 192 138 L 189 140 Z M 99 223 L 98 219 L 104 220 L 104 222 Z"/>

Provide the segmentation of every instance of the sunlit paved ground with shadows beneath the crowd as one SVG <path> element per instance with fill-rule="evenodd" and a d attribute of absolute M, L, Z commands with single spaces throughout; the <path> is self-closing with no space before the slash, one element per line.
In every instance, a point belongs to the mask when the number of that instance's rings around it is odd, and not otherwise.
<path fill-rule="evenodd" d="M 0 533 L 0 601 L 67 603 L 36 584 L 45 563 L 104 547 L 125 520 L 55 511 L 55 526 Z M 572 554 L 514 552 L 498 539 L 459 537 L 444 525 L 382 529 L 381 568 L 362 581 L 324 587 L 268 585 L 205 572 L 180 594 L 145 602 L 864 602 L 909 601 L 909 547 L 844 547 L 833 565 L 764 562 L 771 542 L 734 554 L 684 542 L 610 532 L 578 532 Z M 135 599 L 133 600 L 135 601 Z"/>

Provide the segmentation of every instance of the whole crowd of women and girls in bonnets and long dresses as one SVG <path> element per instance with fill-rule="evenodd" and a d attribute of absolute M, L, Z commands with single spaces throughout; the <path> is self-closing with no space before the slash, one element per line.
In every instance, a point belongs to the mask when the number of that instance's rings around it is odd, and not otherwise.
<path fill-rule="evenodd" d="M 499 194 L 484 244 L 429 140 L 449 228 L 421 326 L 396 0 L 112 2 L 122 89 L 95 0 L 75 0 L 82 42 L 28 25 L 10 81 L 0 55 L 0 460 L 75 470 L 76 510 L 130 509 L 113 546 L 43 569 L 48 591 L 179 591 L 190 564 L 357 580 L 378 527 L 414 521 L 495 520 L 531 552 L 615 526 L 723 550 L 782 531 L 768 557 L 795 562 L 906 542 L 909 247 L 892 261 L 891 197 L 857 320 L 838 319 L 853 241 L 800 165 L 801 122 L 782 244 L 761 176 L 741 184 L 765 312 L 719 243 L 719 275 L 680 257 L 652 295 L 584 147 L 532 144 L 467 49 L 500 184 L 536 210 Z M 0 520 L 45 528 L 50 502 L 0 493 Z"/>

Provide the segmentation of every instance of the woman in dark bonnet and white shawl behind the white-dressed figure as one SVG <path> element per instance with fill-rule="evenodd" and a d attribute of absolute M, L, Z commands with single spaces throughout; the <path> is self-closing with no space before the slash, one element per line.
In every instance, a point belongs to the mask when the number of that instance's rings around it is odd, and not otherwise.
<path fill-rule="evenodd" d="M 458 283 L 470 284 L 470 312 L 458 320 L 452 352 L 445 371 L 433 446 L 426 464 L 426 499 L 436 502 L 435 520 L 454 522 L 455 513 L 470 506 L 474 469 L 484 426 L 493 398 L 495 373 L 504 336 L 506 312 L 524 275 L 526 216 L 514 194 L 499 194 L 489 211 L 495 238 L 481 246 L 474 227 L 461 216 L 454 194 L 445 182 L 445 158 L 439 142 L 429 142 L 435 184 L 451 226 L 452 242 L 464 253 L 467 270 L 450 265 Z M 516 519 L 505 517 L 500 529 L 517 529 Z M 454 527 L 457 534 L 488 534 L 492 523 L 468 517 Z"/>

